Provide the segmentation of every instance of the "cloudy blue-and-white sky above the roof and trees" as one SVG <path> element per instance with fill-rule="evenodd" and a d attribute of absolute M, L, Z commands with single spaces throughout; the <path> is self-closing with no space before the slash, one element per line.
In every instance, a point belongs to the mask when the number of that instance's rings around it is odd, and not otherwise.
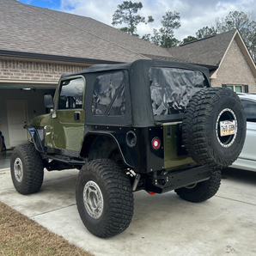
<path fill-rule="evenodd" d="M 140 15 L 152 15 L 155 21 L 151 24 L 139 24 L 137 32 L 140 35 L 152 33 L 153 28 L 161 27 L 162 15 L 167 10 L 180 13 L 181 27 L 174 32 L 175 37 L 182 40 L 187 35 L 195 35 L 199 28 L 214 25 L 216 17 L 224 17 L 229 11 L 256 11 L 256 0 L 140 0 L 143 9 Z M 138 2 L 138 1 L 133 1 Z M 112 23 L 114 11 L 120 0 L 61 0 L 59 10 L 76 15 L 85 15 L 108 25 Z"/>

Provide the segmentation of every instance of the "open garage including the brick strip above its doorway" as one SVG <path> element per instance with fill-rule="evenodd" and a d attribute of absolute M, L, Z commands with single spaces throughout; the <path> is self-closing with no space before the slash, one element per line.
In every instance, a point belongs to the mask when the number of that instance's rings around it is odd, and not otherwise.
<path fill-rule="evenodd" d="M 59 77 L 86 67 L 88 64 L 0 56 L 0 131 L 6 149 L 27 143 L 29 135 L 23 126 L 47 112 L 44 95 L 54 95 Z"/>

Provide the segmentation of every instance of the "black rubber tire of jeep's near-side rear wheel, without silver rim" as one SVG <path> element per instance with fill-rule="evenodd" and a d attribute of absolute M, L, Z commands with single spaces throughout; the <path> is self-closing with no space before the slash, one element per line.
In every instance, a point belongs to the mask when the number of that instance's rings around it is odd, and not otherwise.
<path fill-rule="evenodd" d="M 93 234 L 101 238 L 110 237 L 123 232 L 131 223 L 133 216 L 133 193 L 131 190 L 131 182 L 125 172 L 119 168 L 117 164 L 108 159 L 100 159 L 85 164 L 78 175 L 76 182 L 76 192 L 79 186 L 79 180 L 82 175 L 87 172 L 94 172 L 101 178 L 107 191 L 107 202 L 109 207 L 107 222 L 101 230 L 91 228 L 83 219 L 80 205 L 77 204 L 82 222 Z M 76 193 L 76 202 L 77 202 Z M 84 206 L 83 206 L 84 207 Z"/>

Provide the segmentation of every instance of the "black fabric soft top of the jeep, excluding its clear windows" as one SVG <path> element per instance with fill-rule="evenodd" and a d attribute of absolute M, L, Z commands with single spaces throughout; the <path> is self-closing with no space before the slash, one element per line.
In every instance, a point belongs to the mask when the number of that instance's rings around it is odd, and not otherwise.
<path fill-rule="evenodd" d="M 182 120 L 183 113 L 156 116 L 152 109 L 152 99 L 149 72 L 152 67 L 176 68 L 183 70 L 194 70 L 202 72 L 206 87 L 210 87 L 209 70 L 202 66 L 165 60 L 141 59 L 127 64 L 95 64 L 78 73 L 67 73 L 61 76 L 82 75 L 86 79 L 85 111 L 86 122 L 91 125 L 132 125 L 137 127 L 149 127 L 159 122 Z M 92 113 L 92 95 L 94 94 L 94 82 L 97 76 L 114 70 L 123 70 L 127 77 L 127 88 L 125 88 L 126 110 L 123 116 L 110 117 L 107 115 L 96 116 Z M 175 81 L 179 84 L 179 77 Z M 185 99 L 187 100 L 187 99 Z M 174 100 L 175 101 L 175 100 Z M 180 101 L 180 100 L 179 100 Z M 181 99 L 181 101 L 183 101 Z M 185 105 L 187 104 L 187 101 Z M 185 106 L 186 107 L 186 106 Z"/>

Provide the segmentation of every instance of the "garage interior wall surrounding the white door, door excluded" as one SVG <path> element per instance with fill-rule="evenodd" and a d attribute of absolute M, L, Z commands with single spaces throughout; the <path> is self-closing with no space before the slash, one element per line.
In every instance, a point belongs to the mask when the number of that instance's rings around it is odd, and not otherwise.
<path fill-rule="evenodd" d="M 6 101 L 27 101 L 27 121 L 46 113 L 45 94 L 54 94 L 54 89 L 21 90 L 18 88 L 0 88 L 0 131 L 3 132 L 6 148 L 9 149 L 9 128 Z"/>

